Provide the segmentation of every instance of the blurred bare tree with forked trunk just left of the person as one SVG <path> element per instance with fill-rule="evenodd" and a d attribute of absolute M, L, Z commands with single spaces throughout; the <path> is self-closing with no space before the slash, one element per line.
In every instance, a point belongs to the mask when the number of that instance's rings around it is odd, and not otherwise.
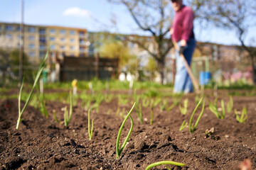
<path fill-rule="evenodd" d="M 130 39 L 137 43 L 143 50 L 156 60 L 161 74 L 161 81 L 164 79 L 165 59 L 173 44 L 167 38 L 171 27 L 171 5 L 169 0 L 107 0 L 114 4 L 122 4 L 127 7 L 130 15 L 137 26 L 149 33 L 154 39 L 154 50 L 149 43 Z"/>

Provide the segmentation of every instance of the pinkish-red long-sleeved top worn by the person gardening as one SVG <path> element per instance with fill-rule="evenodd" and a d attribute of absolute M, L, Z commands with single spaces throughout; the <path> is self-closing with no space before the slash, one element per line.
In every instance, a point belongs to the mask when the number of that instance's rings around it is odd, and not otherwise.
<path fill-rule="evenodd" d="M 194 38 L 193 34 L 193 11 L 188 6 L 182 6 L 174 15 L 172 28 L 172 40 L 178 42 L 180 40 L 188 41 L 189 38 Z"/>

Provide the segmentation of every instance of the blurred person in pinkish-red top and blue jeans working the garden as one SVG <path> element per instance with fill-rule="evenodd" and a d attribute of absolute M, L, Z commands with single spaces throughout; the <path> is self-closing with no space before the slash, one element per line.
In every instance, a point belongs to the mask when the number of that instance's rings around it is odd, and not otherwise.
<path fill-rule="evenodd" d="M 170 33 L 171 39 L 177 42 L 179 50 L 176 50 L 176 76 L 174 81 L 174 93 L 184 94 L 193 92 L 191 78 L 180 55 L 183 55 L 191 65 L 193 52 L 196 47 L 196 39 L 193 33 L 193 11 L 183 4 L 182 0 L 171 0 L 175 15 Z"/>

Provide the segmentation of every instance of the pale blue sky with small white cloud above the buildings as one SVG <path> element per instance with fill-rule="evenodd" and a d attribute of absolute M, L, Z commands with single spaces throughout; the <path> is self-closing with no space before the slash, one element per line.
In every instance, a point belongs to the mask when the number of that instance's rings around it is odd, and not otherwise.
<path fill-rule="evenodd" d="M 107 0 L 24 0 L 24 11 L 26 24 L 144 34 L 137 29 L 124 6 L 109 4 Z M 117 28 L 111 22 L 113 16 L 118 22 Z M 21 0 L 0 0 L 0 22 L 21 22 Z M 197 40 L 226 45 L 239 44 L 232 31 L 201 28 L 196 23 L 194 25 Z M 247 37 L 256 38 L 255 31 L 250 31 Z"/>

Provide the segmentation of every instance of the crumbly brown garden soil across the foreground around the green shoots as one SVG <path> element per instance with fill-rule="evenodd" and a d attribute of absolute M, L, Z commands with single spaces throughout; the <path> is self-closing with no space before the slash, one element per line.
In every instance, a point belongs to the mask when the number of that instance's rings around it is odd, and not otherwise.
<path fill-rule="evenodd" d="M 127 146 L 116 159 L 116 140 L 123 118 L 116 115 L 118 99 L 103 102 L 99 113 L 91 111 L 94 132 L 89 140 L 87 132 L 87 111 L 78 106 L 73 108 L 73 116 L 68 128 L 63 125 L 63 103 L 48 102 L 49 118 L 44 118 L 36 108 L 28 106 L 23 114 L 23 122 L 16 130 L 18 101 L 0 101 L 0 169 L 145 169 L 154 162 L 170 160 L 186 166 L 170 166 L 173 169 L 238 169 L 240 162 L 248 158 L 252 169 L 256 169 L 256 98 L 234 96 L 234 108 L 239 111 L 247 107 L 246 123 L 238 123 L 235 113 L 227 113 L 220 120 L 210 112 L 206 98 L 206 108 L 194 133 L 188 127 L 179 131 L 183 120 L 189 121 L 196 106 L 194 95 L 188 98 L 188 113 L 182 115 L 178 107 L 171 111 L 154 108 L 154 121 L 150 125 L 150 108 L 143 108 L 144 124 L 137 113 L 132 112 L 134 128 Z M 228 96 L 220 96 L 229 100 Z M 171 105 L 171 98 L 169 105 Z M 218 103 L 220 106 L 220 102 Z M 132 99 L 119 106 L 120 111 L 132 107 Z M 69 106 L 68 106 L 69 108 Z M 59 125 L 53 119 L 53 109 Z M 196 121 L 201 108 L 193 121 Z M 215 128 L 212 136 L 206 138 L 206 129 Z M 121 144 L 130 128 L 127 120 L 122 131 Z M 125 135 L 125 136 L 124 136 Z M 152 169 L 166 169 L 156 166 Z"/>

